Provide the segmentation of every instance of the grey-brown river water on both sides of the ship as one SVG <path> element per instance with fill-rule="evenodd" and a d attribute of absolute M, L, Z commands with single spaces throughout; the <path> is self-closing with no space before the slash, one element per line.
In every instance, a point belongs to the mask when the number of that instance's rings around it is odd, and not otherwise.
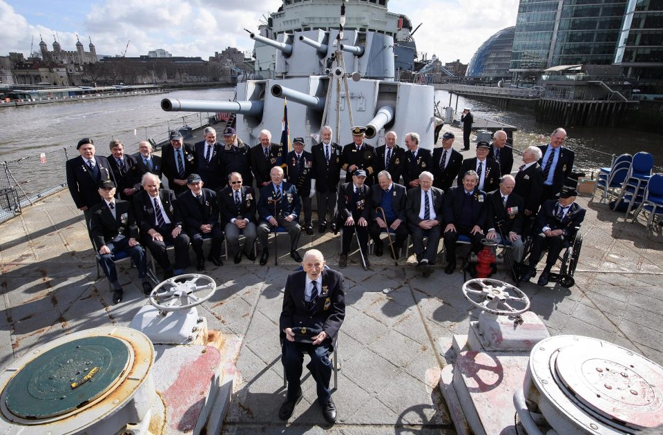
<path fill-rule="evenodd" d="M 164 112 L 160 101 L 164 97 L 180 99 L 217 99 L 227 101 L 234 95 L 233 88 L 208 90 L 175 90 L 167 94 L 140 95 L 72 101 L 67 103 L 37 104 L 0 109 L 0 160 L 15 160 L 28 155 L 39 155 L 62 146 L 75 145 L 81 137 L 93 137 L 105 143 L 111 135 L 137 139 L 150 126 L 160 125 L 164 131 L 168 123 L 182 125 L 181 115 Z M 437 90 L 435 99 L 440 106 L 449 104 L 449 93 Z M 459 110 L 472 107 L 476 117 L 499 119 L 517 126 L 514 135 L 515 148 L 541 144 L 541 135 L 548 137 L 559 126 L 536 121 L 533 110 L 508 108 L 503 110 L 486 101 L 452 97 L 451 106 Z M 179 124 L 178 124 L 179 122 Z M 480 126 L 480 124 L 479 124 Z M 654 155 L 657 170 L 663 166 L 661 136 L 628 128 L 567 128 L 566 146 L 576 153 L 576 165 L 580 168 L 596 168 L 610 163 L 611 154 L 647 151 Z M 126 141 L 125 141 L 126 142 Z"/>

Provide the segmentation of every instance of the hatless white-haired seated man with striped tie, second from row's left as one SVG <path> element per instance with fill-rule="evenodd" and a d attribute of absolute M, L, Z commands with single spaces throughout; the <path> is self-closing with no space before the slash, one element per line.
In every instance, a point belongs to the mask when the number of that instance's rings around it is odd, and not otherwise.
<path fill-rule="evenodd" d="M 189 235 L 182 231 L 182 214 L 175 192 L 159 189 L 161 181 L 153 173 L 142 177 L 143 190 L 133 198 L 133 209 L 142 243 L 164 270 L 164 280 L 181 275 L 189 267 Z M 166 243 L 175 246 L 175 271 L 168 258 Z"/>

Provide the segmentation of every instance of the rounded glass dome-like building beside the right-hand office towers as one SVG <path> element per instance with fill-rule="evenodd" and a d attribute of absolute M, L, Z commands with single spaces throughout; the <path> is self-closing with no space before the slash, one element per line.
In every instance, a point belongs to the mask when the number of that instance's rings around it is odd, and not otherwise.
<path fill-rule="evenodd" d="M 509 62 L 515 30 L 515 26 L 504 28 L 481 44 L 472 56 L 465 76 L 490 79 L 511 77 Z"/>

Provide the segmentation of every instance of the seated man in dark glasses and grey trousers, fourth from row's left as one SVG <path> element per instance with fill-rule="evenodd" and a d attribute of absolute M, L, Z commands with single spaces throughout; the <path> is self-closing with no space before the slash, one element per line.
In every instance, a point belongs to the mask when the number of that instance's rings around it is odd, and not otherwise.
<path fill-rule="evenodd" d="M 253 253 L 253 243 L 256 242 L 256 192 L 251 186 L 242 186 L 242 174 L 231 172 L 228 175 L 228 186 L 219 192 L 219 208 L 221 210 L 221 225 L 226 232 L 226 240 L 231 251 L 235 253 L 234 262 L 242 261 L 240 250 L 240 234 L 247 239 L 244 242 L 244 255 L 249 261 L 256 260 Z"/>

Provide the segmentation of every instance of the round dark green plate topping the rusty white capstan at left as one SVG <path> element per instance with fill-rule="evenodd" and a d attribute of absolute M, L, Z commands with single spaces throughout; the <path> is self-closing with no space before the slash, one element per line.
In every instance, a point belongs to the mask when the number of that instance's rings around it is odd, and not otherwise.
<path fill-rule="evenodd" d="M 66 342 L 17 372 L 6 389 L 6 406 L 24 418 L 71 412 L 117 383 L 130 352 L 124 340 L 108 336 Z"/>

